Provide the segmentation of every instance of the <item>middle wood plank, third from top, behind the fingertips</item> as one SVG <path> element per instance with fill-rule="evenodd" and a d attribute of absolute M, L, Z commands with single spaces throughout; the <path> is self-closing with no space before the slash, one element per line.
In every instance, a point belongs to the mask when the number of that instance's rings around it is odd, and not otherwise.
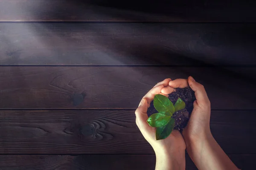
<path fill-rule="evenodd" d="M 205 86 L 212 109 L 256 109 L 254 78 L 220 68 L 17 66 L 0 67 L 0 108 L 137 108 L 157 82 L 190 75 Z"/>

